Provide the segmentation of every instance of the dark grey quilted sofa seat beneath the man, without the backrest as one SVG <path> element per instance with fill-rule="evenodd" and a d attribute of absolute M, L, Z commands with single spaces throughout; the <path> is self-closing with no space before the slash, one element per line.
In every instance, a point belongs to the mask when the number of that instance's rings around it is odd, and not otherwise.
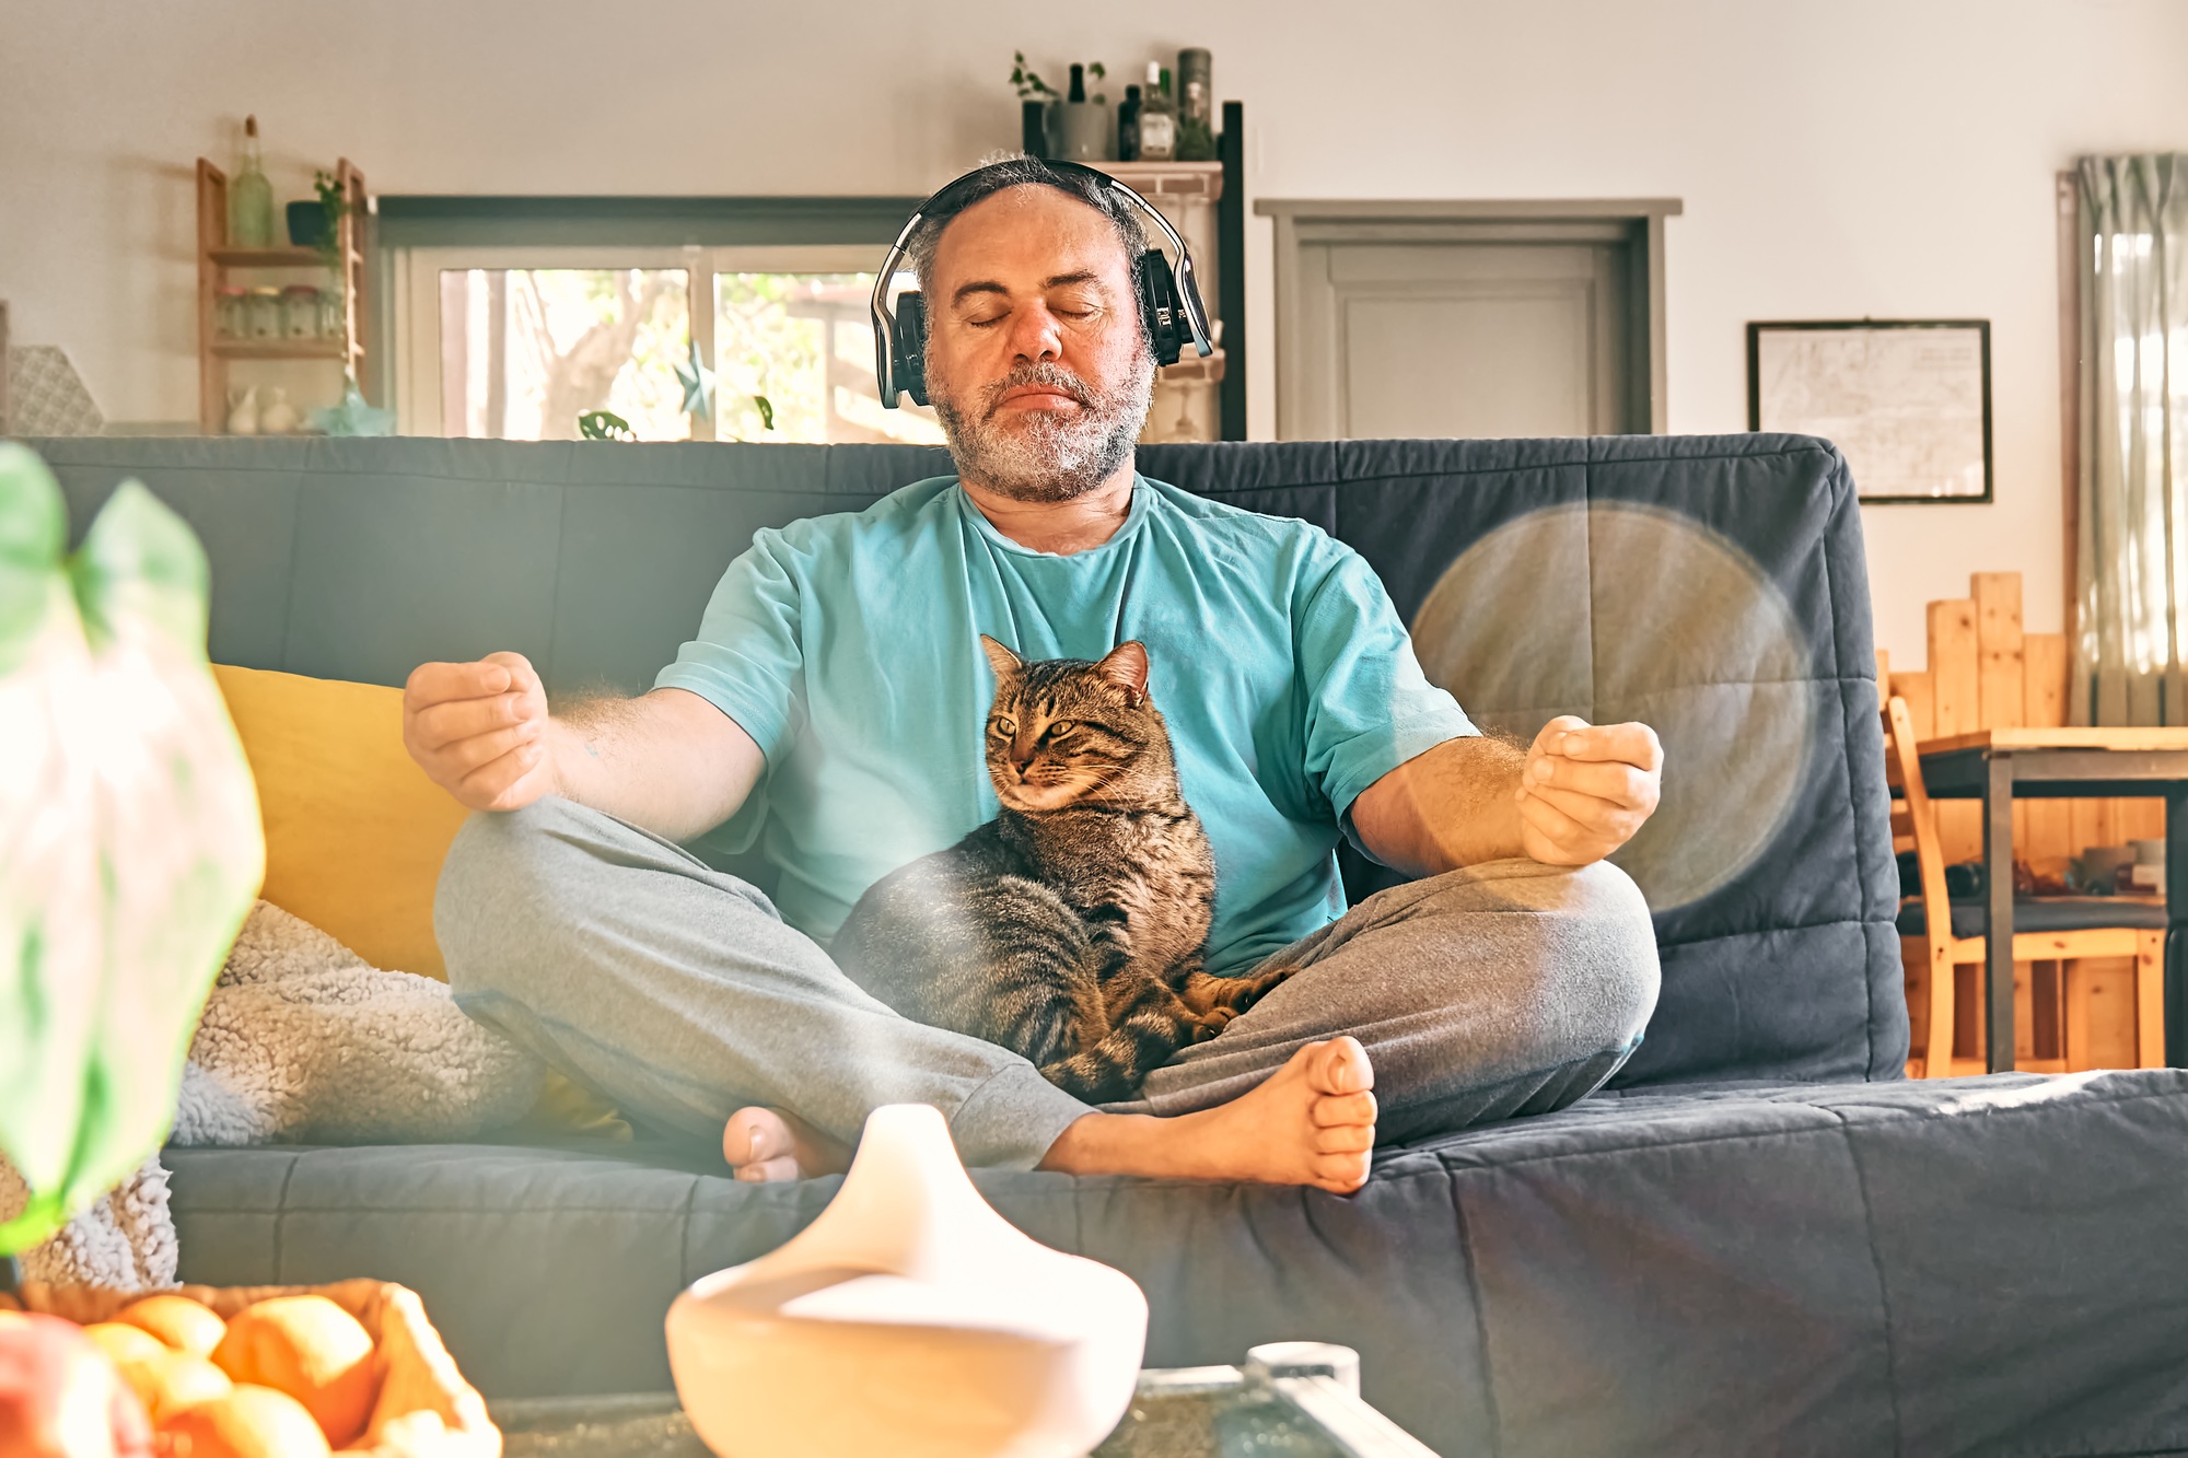
<path fill-rule="evenodd" d="M 1595 1097 L 1357 1195 L 978 1171 L 1149 1296 L 1155 1366 L 1311 1338 L 1444 1454 L 2188 1447 L 2188 1073 Z M 698 1147 L 171 1149 L 182 1278 L 416 1287 L 490 1397 L 659 1390 L 698 1276 L 838 1180 Z"/>

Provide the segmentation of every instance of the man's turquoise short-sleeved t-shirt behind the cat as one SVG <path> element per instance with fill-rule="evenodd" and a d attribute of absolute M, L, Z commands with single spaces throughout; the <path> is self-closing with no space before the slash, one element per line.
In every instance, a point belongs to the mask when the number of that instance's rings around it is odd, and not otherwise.
<path fill-rule="evenodd" d="M 1368 563 L 1319 528 L 1140 477 L 1116 536 L 1057 556 L 998 532 L 954 477 L 917 482 L 755 532 L 654 681 L 707 698 L 768 755 L 715 841 L 759 841 L 792 926 L 827 941 L 875 880 L 996 817 L 980 633 L 1024 659 L 1147 644 L 1217 858 L 1219 974 L 1341 915 L 1352 797 L 1475 733 L 1422 676 Z"/>

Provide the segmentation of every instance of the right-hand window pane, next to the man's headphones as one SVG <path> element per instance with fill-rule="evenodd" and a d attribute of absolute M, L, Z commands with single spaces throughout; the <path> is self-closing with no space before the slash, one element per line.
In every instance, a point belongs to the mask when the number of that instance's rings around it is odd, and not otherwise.
<path fill-rule="evenodd" d="M 910 401 L 882 409 L 873 274 L 715 274 L 713 296 L 720 440 L 943 442 L 932 409 Z"/>

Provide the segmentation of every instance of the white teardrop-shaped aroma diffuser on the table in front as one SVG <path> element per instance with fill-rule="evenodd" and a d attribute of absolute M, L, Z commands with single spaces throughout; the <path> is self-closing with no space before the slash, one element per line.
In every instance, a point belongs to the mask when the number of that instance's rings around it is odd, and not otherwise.
<path fill-rule="evenodd" d="M 1020 1235 L 941 1112 L 893 1103 L 836 1200 L 678 1296 L 667 1338 L 722 1458 L 1083 1458 L 1131 1403 L 1147 1296 Z"/>

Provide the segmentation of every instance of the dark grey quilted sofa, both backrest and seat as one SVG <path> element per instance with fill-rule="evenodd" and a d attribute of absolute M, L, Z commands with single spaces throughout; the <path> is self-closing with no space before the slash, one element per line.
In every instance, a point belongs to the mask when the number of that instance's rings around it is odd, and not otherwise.
<path fill-rule="evenodd" d="M 549 687 L 643 687 L 757 525 L 947 468 L 891 447 L 33 444 L 79 530 L 131 475 L 193 521 L 217 659 L 379 683 L 514 648 Z M 1352 1197 L 980 1176 L 1035 1237 L 1140 1281 L 1151 1364 L 1346 1342 L 1368 1399 L 1453 1456 L 2188 1449 L 2181 1075 L 1899 1077 L 1869 593 L 1831 447 L 1160 447 L 1142 468 L 1357 545 L 1479 720 L 1648 718 L 1669 755 L 1626 854 L 1663 1000 L 1610 1090 L 1385 1149 Z M 667 1386 L 676 1289 L 834 1191 L 656 1141 L 168 1160 L 186 1278 L 409 1283 L 488 1395 Z"/>

